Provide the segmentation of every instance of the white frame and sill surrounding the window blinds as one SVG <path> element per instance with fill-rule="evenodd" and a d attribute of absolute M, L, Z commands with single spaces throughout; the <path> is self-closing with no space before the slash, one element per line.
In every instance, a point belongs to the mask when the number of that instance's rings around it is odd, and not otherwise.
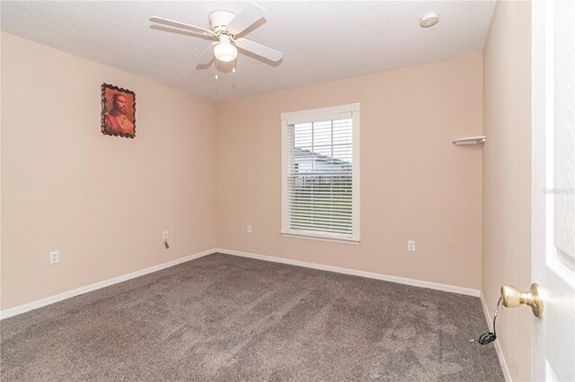
<path fill-rule="evenodd" d="M 352 124 L 351 164 L 351 225 L 352 234 L 343 235 L 330 232 L 290 230 L 288 221 L 288 126 L 298 123 L 324 121 L 327 119 L 349 118 Z M 323 109 L 310 109 L 281 113 L 281 234 L 288 237 L 320 239 L 350 244 L 359 243 L 359 103 L 334 106 Z"/>

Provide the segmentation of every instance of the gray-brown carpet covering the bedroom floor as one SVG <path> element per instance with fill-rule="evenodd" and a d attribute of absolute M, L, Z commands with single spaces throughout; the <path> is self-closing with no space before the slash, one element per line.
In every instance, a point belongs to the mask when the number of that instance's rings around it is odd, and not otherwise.
<path fill-rule="evenodd" d="M 478 298 L 221 254 L 0 329 L 6 382 L 504 380 Z"/>

